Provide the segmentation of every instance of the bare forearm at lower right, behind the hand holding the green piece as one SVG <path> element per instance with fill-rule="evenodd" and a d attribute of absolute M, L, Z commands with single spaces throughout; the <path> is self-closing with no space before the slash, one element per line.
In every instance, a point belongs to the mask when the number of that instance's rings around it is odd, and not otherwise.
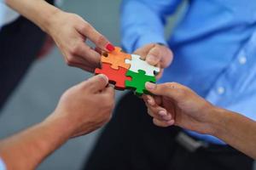
<path fill-rule="evenodd" d="M 213 135 L 256 159 L 256 122 L 232 111 L 217 109 Z"/>

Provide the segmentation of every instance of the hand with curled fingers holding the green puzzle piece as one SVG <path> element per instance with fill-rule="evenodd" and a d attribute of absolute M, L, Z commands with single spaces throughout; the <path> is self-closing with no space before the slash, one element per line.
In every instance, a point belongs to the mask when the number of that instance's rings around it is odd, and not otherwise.
<path fill-rule="evenodd" d="M 148 114 L 160 127 L 177 125 L 198 133 L 212 133 L 212 122 L 216 121 L 216 108 L 191 89 L 176 82 L 154 84 L 147 82 L 146 88 L 156 96 L 144 95 Z"/>

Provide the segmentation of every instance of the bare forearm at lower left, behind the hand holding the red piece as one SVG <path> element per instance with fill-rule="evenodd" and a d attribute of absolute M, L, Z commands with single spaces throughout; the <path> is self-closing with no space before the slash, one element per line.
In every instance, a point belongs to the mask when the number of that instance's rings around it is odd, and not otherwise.
<path fill-rule="evenodd" d="M 45 121 L 0 142 L 0 157 L 11 169 L 34 169 L 69 139 L 67 120 Z"/>

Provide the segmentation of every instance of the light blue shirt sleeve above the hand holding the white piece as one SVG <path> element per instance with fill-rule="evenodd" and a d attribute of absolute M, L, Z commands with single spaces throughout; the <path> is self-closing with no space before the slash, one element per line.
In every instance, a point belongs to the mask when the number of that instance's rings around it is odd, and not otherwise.
<path fill-rule="evenodd" d="M 182 0 L 124 0 L 121 4 L 122 46 L 131 53 L 151 42 L 166 44 L 166 16 Z"/>

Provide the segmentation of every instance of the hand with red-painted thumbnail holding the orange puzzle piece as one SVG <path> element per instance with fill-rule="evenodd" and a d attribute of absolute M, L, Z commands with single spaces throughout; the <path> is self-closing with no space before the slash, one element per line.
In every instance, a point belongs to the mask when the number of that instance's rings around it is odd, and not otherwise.
<path fill-rule="evenodd" d="M 101 55 L 85 43 L 87 38 L 95 43 L 97 49 L 113 51 L 108 39 L 79 15 L 58 10 L 52 17 L 44 30 L 53 37 L 67 65 L 91 72 L 99 65 Z"/>

